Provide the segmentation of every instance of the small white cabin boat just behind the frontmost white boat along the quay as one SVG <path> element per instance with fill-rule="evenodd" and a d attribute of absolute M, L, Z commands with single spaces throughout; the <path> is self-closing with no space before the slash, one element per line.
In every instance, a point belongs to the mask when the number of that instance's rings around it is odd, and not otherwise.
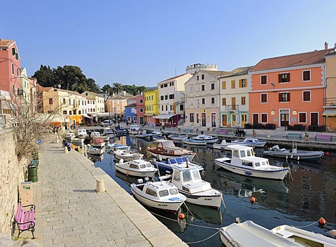
<path fill-rule="evenodd" d="M 120 171 L 120 173 L 141 178 L 153 178 L 155 173 L 158 171 L 157 168 L 144 159 L 135 159 L 127 162 L 120 159 L 118 163 L 115 163 L 115 166 L 116 170 Z"/>

